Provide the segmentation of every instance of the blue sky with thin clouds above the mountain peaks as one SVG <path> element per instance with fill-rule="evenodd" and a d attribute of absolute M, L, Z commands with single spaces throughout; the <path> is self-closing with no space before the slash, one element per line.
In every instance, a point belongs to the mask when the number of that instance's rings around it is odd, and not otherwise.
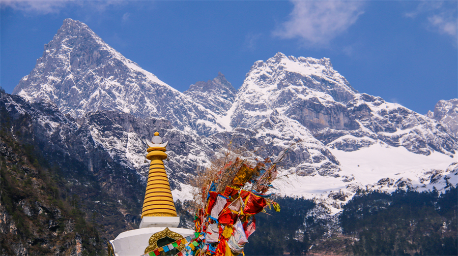
<path fill-rule="evenodd" d="M 421 114 L 458 98 L 458 1 L 2 0 L 0 11 L 9 93 L 72 18 L 180 91 L 218 72 L 238 88 L 282 52 L 328 57 L 358 91 Z"/>

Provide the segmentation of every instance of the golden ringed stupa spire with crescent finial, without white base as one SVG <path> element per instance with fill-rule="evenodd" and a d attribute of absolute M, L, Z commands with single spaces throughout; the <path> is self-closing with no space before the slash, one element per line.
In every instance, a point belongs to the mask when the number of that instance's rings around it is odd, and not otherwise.
<path fill-rule="evenodd" d="M 148 144 L 146 158 L 151 161 L 150 172 L 148 174 L 148 183 L 145 193 L 145 201 L 141 218 L 145 216 L 177 216 L 174 199 L 170 191 L 167 174 L 165 173 L 163 160 L 167 158 L 165 147 L 168 141 L 162 143 L 162 138 L 159 133 L 155 132 Z"/>

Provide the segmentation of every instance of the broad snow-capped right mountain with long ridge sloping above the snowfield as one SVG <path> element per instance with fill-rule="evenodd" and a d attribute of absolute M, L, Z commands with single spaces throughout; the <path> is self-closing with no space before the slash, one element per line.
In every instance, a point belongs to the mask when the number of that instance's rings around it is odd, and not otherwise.
<path fill-rule="evenodd" d="M 421 154 L 436 150 L 452 155 L 456 150 L 456 138 L 437 122 L 380 97 L 358 93 L 327 58 L 277 53 L 265 62 L 256 61 L 233 109 L 234 126 L 251 126 L 276 111 L 297 120 L 331 148 L 345 151 L 377 140 Z"/>

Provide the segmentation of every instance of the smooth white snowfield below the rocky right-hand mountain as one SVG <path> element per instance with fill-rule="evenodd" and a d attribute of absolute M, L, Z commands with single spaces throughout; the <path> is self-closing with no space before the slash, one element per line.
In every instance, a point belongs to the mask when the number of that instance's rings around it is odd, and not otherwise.
<path fill-rule="evenodd" d="M 327 176 L 289 176 L 276 182 L 281 194 L 316 199 L 331 206 L 333 213 L 351 200 L 357 189 L 392 192 L 408 187 L 439 191 L 458 184 L 458 162 L 439 152 L 416 154 L 404 147 L 383 142 L 356 151 L 331 149 L 340 163 L 342 178 Z M 284 173 L 286 174 L 286 173 Z"/>

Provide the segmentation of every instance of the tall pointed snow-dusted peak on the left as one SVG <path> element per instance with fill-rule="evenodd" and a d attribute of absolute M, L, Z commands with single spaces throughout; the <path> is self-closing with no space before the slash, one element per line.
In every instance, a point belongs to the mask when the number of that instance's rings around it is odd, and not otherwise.
<path fill-rule="evenodd" d="M 51 101 L 81 117 L 97 110 L 171 120 L 199 134 L 223 130 L 203 106 L 141 69 L 107 45 L 87 25 L 64 20 L 32 72 L 13 94 L 28 101 Z"/>

